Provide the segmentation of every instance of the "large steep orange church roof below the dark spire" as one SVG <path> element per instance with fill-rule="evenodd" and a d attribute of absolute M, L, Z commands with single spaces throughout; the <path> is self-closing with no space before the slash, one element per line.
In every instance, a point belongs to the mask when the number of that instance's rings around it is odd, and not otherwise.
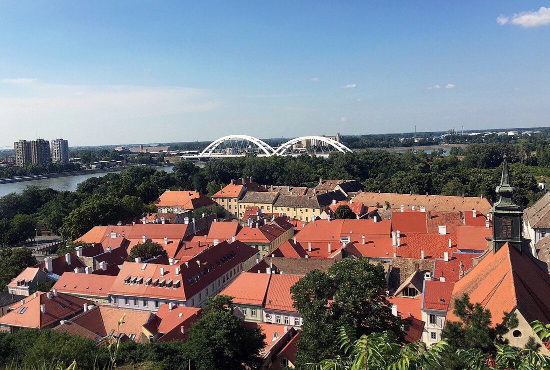
<path fill-rule="evenodd" d="M 489 309 L 493 325 L 500 323 L 503 313 L 517 307 L 527 322 L 550 322 L 550 278 L 528 253 L 520 253 L 504 244 L 496 253 L 485 257 L 462 279 L 457 281 L 451 297 L 447 320 L 458 320 L 454 315 L 454 299 L 463 293 L 470 301 L 481 302 Z"/>

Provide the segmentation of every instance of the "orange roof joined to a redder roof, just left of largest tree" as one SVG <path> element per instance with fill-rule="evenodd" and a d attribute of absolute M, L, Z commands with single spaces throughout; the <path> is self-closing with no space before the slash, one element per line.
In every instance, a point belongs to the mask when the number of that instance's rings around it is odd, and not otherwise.
<path fill-rule="evenodd" d="M 242 273 L 220 295 L 235 297 L 233 302 L 261 306 L 266 297 L 271 274 Z"/>

